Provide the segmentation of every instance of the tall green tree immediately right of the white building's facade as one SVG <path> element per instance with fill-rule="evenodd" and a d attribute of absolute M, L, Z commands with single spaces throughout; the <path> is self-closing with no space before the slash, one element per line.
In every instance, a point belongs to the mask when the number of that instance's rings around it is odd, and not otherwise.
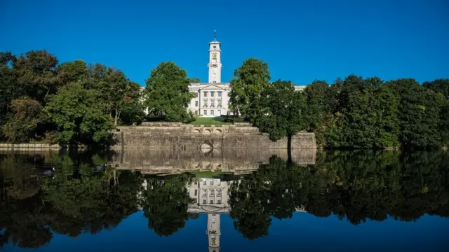
<path fill-rule="evenodd" d="M 267 62 L 249 58 L 234 71 L 229 92 L 229 109 L 234 115 L 241 113 L 251 120 L 260 110 L 260 93 L 269 86 L 270 74 Z"/>

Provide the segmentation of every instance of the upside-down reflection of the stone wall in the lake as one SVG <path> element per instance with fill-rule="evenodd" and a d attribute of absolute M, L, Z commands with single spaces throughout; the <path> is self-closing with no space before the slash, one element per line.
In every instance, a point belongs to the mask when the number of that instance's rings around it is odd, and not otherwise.
<path fill-rule="evenodd" d="M 116 169 L 140 171 L 145 174 L 180 174 L 183 172 L 220 171 L 247 174 L 269 163 L 276 155 L 287 160 L 283 149 L 213 149 L 207 153 L 199 150 L 123 149 L 115 151 L 111 164 Z M 292 151 L 293 162 L 314 165 L 316 149 Z"/>

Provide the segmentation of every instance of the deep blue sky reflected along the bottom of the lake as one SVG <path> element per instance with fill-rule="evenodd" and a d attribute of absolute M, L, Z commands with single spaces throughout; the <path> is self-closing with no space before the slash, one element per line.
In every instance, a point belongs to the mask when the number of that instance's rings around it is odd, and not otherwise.
<path fill-rule="evenodd" d="M 98 235 L 69 238 L 55 235 L 41 251 L 207 251 L 207 214 L 189 220 L 183 230 L 158 237 L 138 212 L 113 230 Z M 416 222 L 367 221 L 352 225 L 335 216 L 318 218 L 294 213 L 293 218 L 273 219 L 269 236 L 254 241 L 234 229 L 228 214 L 221 216 L 223 251 L 444 251 L 449 245 L 449 218 L 422 216 Z M 5 251 L 20 251 L 11 245 Z M 27 250 L 25 250 L 27 251 Z"/>

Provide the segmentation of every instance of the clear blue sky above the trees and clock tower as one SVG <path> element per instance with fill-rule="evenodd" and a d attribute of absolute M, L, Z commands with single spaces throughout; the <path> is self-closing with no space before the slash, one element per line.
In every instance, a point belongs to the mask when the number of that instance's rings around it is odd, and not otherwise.
<path fill-rule="evenodd" d="M 207 81 L 208 42 L 222 42 L 222 81 L 243 59 L 272 79 L 333 83 L 350 73 L 449 78 L 447 0 L 0 0 L 0 51 L 45 49 L 60 62 L 114 66 L 145 85 L 173 61 Z"/>

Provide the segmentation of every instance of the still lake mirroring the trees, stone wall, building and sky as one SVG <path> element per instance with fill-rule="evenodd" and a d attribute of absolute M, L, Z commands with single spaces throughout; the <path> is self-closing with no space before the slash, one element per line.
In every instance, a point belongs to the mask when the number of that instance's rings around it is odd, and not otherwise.
<path fill-rule="evenodd" d="M 449 152 L 291 160 L 274 150 L 0 151 L 0 247 L 448 251 Z"/>

